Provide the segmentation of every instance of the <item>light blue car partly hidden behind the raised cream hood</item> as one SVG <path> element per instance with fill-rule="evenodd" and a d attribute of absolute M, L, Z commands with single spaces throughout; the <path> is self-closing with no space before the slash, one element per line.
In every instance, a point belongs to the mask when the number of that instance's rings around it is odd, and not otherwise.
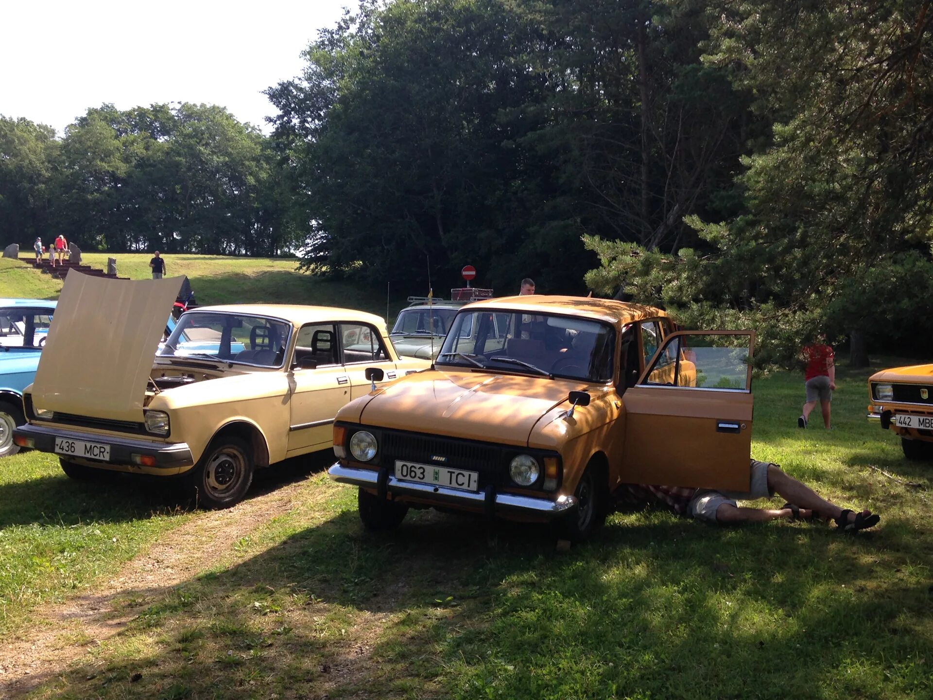
<path fill-rule="evenodd" d="M 26 422 L 22 390 L 33 383 L 55 301 L 0 299 L 0 457 L 15 455 L 13 428 Z"/>

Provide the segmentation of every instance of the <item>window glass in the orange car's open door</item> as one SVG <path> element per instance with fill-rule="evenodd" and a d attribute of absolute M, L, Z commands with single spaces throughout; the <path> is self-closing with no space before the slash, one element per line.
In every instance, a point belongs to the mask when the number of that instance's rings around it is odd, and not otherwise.
<path fill-rule="evenodd" d="M 748 343 L 745 334 L 676 336 L 665 343 L 645 384 L 746 391 Z"/>

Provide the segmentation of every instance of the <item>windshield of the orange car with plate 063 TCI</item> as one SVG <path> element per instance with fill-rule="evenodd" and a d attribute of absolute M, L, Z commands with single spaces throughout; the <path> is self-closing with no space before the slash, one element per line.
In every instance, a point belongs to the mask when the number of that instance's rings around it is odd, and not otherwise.
<path fill-rule="evenodd" d="M 470 335 L 462 329 L 474 329 Z M 612 379 L 616 331 L 574 316 L 461 311 L 438 364 L 547 374 L 588 382 Z"/>

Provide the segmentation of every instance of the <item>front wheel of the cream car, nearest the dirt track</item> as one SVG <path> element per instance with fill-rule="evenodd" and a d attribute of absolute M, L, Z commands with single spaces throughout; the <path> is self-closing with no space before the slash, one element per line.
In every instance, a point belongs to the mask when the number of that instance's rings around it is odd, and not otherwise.
<path fill-rule="evenodd" d="M 188 494 L 201 508 L 218 511 L 243 500 L 253 483 L 253 451 L 240 438 L 221 436 L 185 475 Z"/>

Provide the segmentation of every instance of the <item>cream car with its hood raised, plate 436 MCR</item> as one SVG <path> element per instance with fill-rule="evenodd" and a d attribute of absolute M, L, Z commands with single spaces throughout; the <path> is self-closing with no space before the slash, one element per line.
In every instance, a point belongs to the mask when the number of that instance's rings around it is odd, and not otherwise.
<path fill-rule="evenodd" d="M 388 382 L 428 366 L 399 359 L 379 316 L 325 306 L 203 306 L 163 339 L 180 284 L 69 274 L 17 444 L 73 478 L 181 474 L 225 508 L 254 469 L 330 449 L 338 409 L 374 385 L 366 368 Z"/>

